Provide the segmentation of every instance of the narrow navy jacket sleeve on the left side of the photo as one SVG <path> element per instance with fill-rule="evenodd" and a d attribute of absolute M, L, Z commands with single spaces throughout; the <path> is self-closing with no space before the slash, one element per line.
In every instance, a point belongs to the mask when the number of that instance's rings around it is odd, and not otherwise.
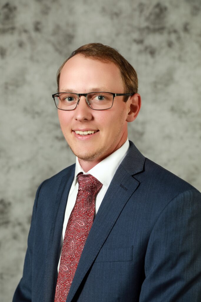
<path fill-rule="evenodd" d="M 43 184 L 43 183 L 42 183 Z M 27 252 L 24 260 L 23 276 L 15 290 L 13 302 L 29 302 L 32 301 L 32 253 L 35 233 L 35 220 L 37 211 L 37 201 L 42 184 L 36 192 L 36 198 L 33 205 L 33 213 L 31 219 L 31 226 L 28 236 Z"/>

